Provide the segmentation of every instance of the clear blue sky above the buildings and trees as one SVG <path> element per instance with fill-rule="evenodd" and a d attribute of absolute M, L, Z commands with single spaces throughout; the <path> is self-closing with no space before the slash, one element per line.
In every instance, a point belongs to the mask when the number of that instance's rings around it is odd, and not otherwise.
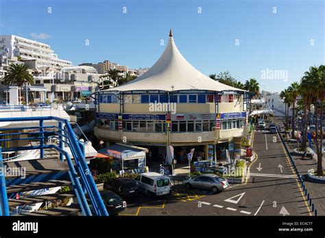
<path fill-rule="evenodd" d="M 74 65 L 109 59 L 139 68 L 156 62 L 172 28 L 182 55 L 205 75 L 228 70 L 277 92 L 325 64 L 324 12 L 322 0 L 0 0 L 0 34 L 50 44 Z M 287 70 L 288 80 L 261 78 L 267 68 Z"/>

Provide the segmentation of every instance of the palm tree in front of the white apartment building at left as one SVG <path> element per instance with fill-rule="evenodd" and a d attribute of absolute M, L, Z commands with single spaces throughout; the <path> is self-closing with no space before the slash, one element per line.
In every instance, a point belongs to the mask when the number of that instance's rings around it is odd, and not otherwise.
<path fill-rule="evenodd" d="M 7 75 L 3 77 L 5 85 L 16 85 L 19 87 L 19 98 L 23 85 L 34 84 L 34 78 L 29 74 L 27 66 L 23 64 L 10 64 L 7 68 Z M 27 98 L 27 97 L 26 97 Z M 26 102 L 27 105 L 28 102 Z"/>

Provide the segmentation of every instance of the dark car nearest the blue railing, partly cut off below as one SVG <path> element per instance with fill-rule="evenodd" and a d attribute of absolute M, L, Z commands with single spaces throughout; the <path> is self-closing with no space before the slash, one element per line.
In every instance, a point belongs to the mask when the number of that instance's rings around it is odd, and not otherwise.
<path fill-rule="evenodd" d="M 101 198 L 105 204 L 109 215 L 118 215 L 119 212 L 125 210 L 126 202 L 113 191 L 101 191 Z"/>

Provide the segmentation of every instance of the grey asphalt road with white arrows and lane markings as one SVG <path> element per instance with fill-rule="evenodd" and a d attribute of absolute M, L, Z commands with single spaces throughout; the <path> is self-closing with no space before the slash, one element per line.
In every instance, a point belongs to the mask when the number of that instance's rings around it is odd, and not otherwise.
<path fill-rule="evenodd" d="M 124 215 L 311 215 L 278 135 L 256 131 L 253 148 L 258 159 L 246 184 L 219 194 L 175 187 L 170 198 L 129 202 Z"/>

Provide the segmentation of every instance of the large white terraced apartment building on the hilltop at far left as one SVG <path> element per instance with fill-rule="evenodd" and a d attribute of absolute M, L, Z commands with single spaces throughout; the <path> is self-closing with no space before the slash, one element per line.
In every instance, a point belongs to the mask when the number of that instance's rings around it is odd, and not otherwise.
<path fill-rule="evenodd" d="M 14 35 L 0 35 L 0 56 L 8 59 L 20 56 L 22 60 L 36 60 L 36 68 L 72 66 L 70 61 L 59 59 L 49 44 Z"/>

